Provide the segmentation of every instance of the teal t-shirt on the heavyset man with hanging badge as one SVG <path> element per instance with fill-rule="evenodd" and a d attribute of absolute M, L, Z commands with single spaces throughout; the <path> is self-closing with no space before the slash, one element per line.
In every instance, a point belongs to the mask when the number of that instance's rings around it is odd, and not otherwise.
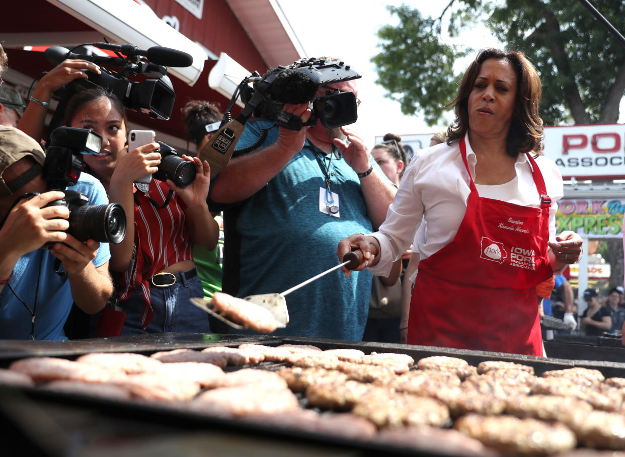
<path fill-rule="evenodd" d="M 269 126 L 265 120 L 249 121 L 237 149 L 253 144 L 261 128 Z M 270 129 L 259 149 L 277 136 L 278 129 Z M 284 292 L 336 266 L 339 241 L 354 233 L 370 233 L 360 181 L 336 155 L 330 164 L 330 188 L 339 195 L 341 217 L 319 211 L 319 188 L 326 188 L 329 156 L 324 158 L 306 140 L 302 151 L 264 188 L 224 211 L 224 291 L 239 297 Z M 379 169 L 375 161 L 371 163 Z M 273 334 L 361 341 L 371 278 L 369 271 L 354 271 L 347 278 L 338 269 L 288 294 L 289 324 Z"/>

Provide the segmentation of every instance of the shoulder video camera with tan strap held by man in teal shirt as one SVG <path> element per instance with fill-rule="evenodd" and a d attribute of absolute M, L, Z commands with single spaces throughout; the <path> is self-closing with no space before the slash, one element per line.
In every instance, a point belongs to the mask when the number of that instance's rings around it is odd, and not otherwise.
<path fill-rule="evenodd" d="M 316 58 L 301 59 L 286 67 L 279 66 L 262 77 L 254 72 L 237 86 L 224 114 L 221 129 L 214 140 L 202 148 L 200 158 L 209 162 L 211 176 L 216 176 L 227 165 L 244 124 L 252 115 L 275 121 L 276 125 L 291 130 L 312 126 L 317 121 L 325 128 L 356 122 L 358 114 L 354 93 L 342 92 L 329 85 L 357 78 L 361 78 L 361 75 L 343 61 Z M 325 88 L 326 93 L 317 97 L 320 88 Z M 239 116 L 231 120 L 231 109 L 239 95 L 245 107 Z M 285 103 L 311 103 L 311 118 L 305 124 L 302 123 L 301 119 L 282 111 Z M 262 139 L 246 148 L 246 152 L 253 151 L 260 144 Z"/>

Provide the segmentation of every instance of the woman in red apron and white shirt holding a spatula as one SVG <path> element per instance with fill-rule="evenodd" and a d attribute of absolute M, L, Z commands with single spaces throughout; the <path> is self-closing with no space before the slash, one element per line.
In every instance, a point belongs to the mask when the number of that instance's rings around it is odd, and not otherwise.
<path fill-rule="evenodd" d="M 409 344 L 542 356 L 536 285 L 577 261 L 582 240 L 556 237 L 562 177 L 541 155 L 540 98 L 522 53 L 480 51 L 451 103 L 449 142 L 412 159 L 379 231 L 339 243 L 339 259 L 359 248 L 358 269 L 384 276 L 424 218 Z"/>

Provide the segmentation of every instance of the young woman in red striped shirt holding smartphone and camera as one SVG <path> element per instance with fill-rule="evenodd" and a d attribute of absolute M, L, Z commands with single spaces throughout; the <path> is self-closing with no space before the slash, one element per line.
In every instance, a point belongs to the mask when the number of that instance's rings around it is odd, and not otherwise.
<path fill-rule="evenodd" d="M 203 296 L 193 246 L 198 243 L 214 249 L 219 236 L 219 227 L 206 204 L 209 164 L 183 156 L 196 165 L 197 171 L 196 179 L 186 188 L 171 180 L 135 184 L 158 171 L 161 154 L 154 151 L 159 144 L 153 141 L 128 150 L 128 121 L 119 99 L 102 88 L 87 89 L 69 100 L 64 117 L 67 126 L 91 129 L 102 136 L 100 153 L 86 154 L 84 161 L 89 173 L 104 184 L 110 201 L 123 206 L 128 226 L 134 226 L 122 243 L 111 244 L 116 306 L 126 314 L 121 333 L 119 321 L 118 330 L 112 329 L 113 321 L 123 314 L 108 309 L 100 318 L 97 336 L 209 333 L 208 314 L 189 301 Z M 141 132 L 134 131 L 135 139 Z"/>

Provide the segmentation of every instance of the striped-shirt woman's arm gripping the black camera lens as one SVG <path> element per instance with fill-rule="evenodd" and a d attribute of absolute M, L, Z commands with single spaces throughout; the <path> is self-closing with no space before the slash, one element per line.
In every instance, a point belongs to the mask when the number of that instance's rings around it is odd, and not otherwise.
<path fill-rule="evenodd" d="M 171 179 L 167 183 L 183 200 L 184 217 L 191 238 L 197 244 L 207 249 L 215 249 L 219 241 L 219 224 L 212 217 L 206 204 L 208 189 L 211 185 L 211 166 L 207 161 L 183 155 L 183 159 L 192 161 L 196 165 L 196 179 L 191 186 L 179 188 Z"/>

